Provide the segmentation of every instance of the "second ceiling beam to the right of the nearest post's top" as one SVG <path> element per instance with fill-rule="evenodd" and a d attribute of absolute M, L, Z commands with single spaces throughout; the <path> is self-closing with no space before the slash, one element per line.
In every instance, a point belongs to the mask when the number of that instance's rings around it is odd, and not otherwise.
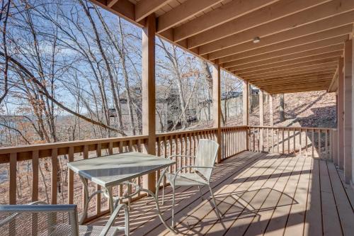
<path fill-rule="evenodd" d="M 230 1 L 229 3 L 215 9 L 214 11 L 205 13 L 203 16 L 195 18 L 192 21 L 184 23 L 182 26 L 174 28 L 174 41 L 178 42 L 190 36 L 202 33 L 205 30 L 209 30 L 215 26 L 220 26 L 222 23 L 232 21 L 235 18 L 246 15 L 247 13 L 261 9 L 262 7 L 272 4 L 275 1 L 279 0 Z"/>

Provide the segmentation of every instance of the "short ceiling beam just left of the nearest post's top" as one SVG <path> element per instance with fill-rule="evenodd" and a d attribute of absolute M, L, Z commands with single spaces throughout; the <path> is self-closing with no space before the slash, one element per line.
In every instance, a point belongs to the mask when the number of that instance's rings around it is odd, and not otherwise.
<path fill-rule="evenodd" d="M 151 13 L 161 9 L 171 0 L 141 0 L 135 4 L 135 21 L 142 21 Z M 119 1 L 118 1 L 119 2 Z"/>

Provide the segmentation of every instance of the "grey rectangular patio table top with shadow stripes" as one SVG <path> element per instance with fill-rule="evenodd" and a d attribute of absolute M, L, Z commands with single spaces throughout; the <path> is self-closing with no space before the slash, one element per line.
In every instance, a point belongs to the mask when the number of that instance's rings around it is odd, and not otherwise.
<path fill-rule="evenodd" d="M 103 187 L 115 186 L 137 176 L 175 164 L 176 161 L 141 152 L 125 152 L 69 162 L 67 166 Z"/>

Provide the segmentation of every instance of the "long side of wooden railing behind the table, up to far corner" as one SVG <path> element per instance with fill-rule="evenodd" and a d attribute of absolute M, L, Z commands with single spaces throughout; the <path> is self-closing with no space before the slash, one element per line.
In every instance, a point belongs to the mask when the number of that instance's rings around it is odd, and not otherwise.
<path fill-rule="evenodd" d="M 216 140 L 217 132 L 217 128 L 210 128 L 157 134 L 156 154 L 163 157 L 173 154 L 195 155 L 199 140 L 202 138 Z M 222 159 L 246 150 L 246 126 L 222 128 L 221 132 Z M 148 136 L 134 136 L 2 147 L 0 164 L 6 165 L 8 178 L 0 182 L 0 187 L 4 190 L 0 193 L 0 203 L 16 204 L 30 201 L 47 201 L 51 204 L 76 203 L 81 210 L 84 202 L 82 184 L 78 176 L 66 168 L 67 162 L 120 152 L 144 152 L 147 142 Z M 193 159 L 182 159 L 172 168 L 176 169 L 181 164 L 193 164 Z M 159 177 L 159 172 L 156 175 Z M 142 184 L 142 178 L 132 181 Z M 89 183 L 89 186 L 90 191 L 99 189 L 99 186 L 92 183 Z M 121 196 L 123 191 L 125 189 L 120 186 L 115 189 L 115 194 Z M 90 202 L 87 220 L 108 212 L 106 199 L 99 194 L 95 198 Z"/>

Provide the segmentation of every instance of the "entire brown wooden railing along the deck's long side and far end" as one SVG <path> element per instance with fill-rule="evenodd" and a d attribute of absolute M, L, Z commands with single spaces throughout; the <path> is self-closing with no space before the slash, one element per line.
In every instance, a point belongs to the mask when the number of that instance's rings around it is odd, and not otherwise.
<path fill-rule="evenodd" d="M 336 130 L 331 128 L 282 128 L 261 126 L 224 127 L 220 130 L 188 130 L 174 133 L 156 134 L 156 154 L 169 157 L 173 154 L 195 155 L 198 142 L 202 138 L 217 140 L 221 132 L 220 151 L 222 159 L 251 150 L 254 152 L 278 152 L 284 154 L 304 154 L 310 157 L 333 159 L 336 153 Z M 263 134 L 263 135 L 262 135 Z M 67 169 L 67 162 L 120 152 L 144 152 L 148 136 L 114 137 L 98 140 L 57 142 L 23 147 L 0 148 L 0 164 L 8 172 L 0 173 L 0 204 L 47 201 L 48 203 L 76 203 L 79 210 L 83 206 L 83 191 L 79 177 Z M 193 159 L 181 159 L 171 171 L 182 164 L 193 164 Z M 2 168 L 5 169 L 5 168 Z M 186 169 L 185 172 L 190 172 Z M 7 178 L 4 176 L 7 176 Z M 156 173 L 159 177 L 159 172 Z M 143 179 L 137 178 L 137 184 Z M 90 191 L 98 186 L 89 183 Z M 123 189 L 115 189 L 121 196 Z M 137 196 L 132 201 L 140 198 Z M 98 195 L 90 202 L 89 217 L 96 218 L 108 212 L 105 198 Z"/>

